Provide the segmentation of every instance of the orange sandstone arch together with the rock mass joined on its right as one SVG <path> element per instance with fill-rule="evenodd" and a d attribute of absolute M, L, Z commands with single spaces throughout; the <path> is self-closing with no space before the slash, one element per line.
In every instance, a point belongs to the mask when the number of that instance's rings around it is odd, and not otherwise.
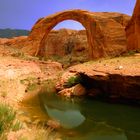
<path fill-rule="evenodd" d="M 51 52 L 51 48 L 46 47 L 48 44 L 53 44 L 51 42 L 52 34 L 49 35 L 50 31 L 58 23 L 69 19 L 78 21 L 85 27 L 88 45 L 88 53 L 87 51 L 85 53 L 88 54 L 90 59 L 110 55 L 115 56 L 126 51 L 126 35 L 124 29 L 130 19 L 129 16 L 120 13 L 94 13 L 84 10 L 62 11 L 39 19 L 33 26 L 28 38 L 17 42 L 19 46 L 22 46 L 22 48 L 19 48 L 23 52 L 35 56 L 44 55 L 46 48 Z M 64 36 L 61 39 L 59 37 L 59 42 L 62 44 L 65 43 L 64 38 Z M 14 45 L 16 46 L 16 44 Z M 58 45 L 50 45 L 50 47 L 54 48 L 56 46 Z M 64 52 L 60 53 L 64 54 Z M 81 53 L 81 55 L 83 54 Z"/>

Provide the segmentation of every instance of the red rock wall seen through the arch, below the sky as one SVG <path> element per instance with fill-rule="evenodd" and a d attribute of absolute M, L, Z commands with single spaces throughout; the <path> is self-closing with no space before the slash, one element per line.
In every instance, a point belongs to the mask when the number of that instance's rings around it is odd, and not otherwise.
<path fill-rule="evenodd" d="M 61 29 L 52 31 L 48 35 L 45 40 L 45 46 L 42 47 L 39 55 L 62 57 L 65 55 L 81 56 L 81 54 L 88 55 L 86 31 Z"/>

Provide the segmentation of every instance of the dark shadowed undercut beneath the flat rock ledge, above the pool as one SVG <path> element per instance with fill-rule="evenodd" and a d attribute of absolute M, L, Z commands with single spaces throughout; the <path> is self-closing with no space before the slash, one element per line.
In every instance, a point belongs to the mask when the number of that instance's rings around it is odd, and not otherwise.
<path fill-rule="evenodd" d="M 108 78 L 103 78 L 103 76 L 96 78 L 97 76 L 89 77 L 83 73 L 79 74 L 87 95 L 103 100 L 140 104 L 140 76 L 108 74 L 106 76 Z"/>

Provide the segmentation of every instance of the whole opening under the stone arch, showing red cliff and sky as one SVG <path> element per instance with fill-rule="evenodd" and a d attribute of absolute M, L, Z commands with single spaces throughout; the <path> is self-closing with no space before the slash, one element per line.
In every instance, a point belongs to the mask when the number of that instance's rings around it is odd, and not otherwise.
<path fill-rule="evenodd" d="M 88 43 L 85 28 L 73 20 L 58 23 L 44 40 L 39 55 L 49 59 L 87 61 Z"/>

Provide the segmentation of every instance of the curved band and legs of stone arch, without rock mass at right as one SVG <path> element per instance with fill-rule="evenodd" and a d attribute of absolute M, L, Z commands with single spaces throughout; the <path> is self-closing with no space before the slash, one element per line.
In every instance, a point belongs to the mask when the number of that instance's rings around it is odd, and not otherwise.
<path fill-rule="evenodd" d="M 84 10 L 68 10 L 41 18 L 33 26 L 29 35 L 29 40 L 33 41 L 33 46 L 36 46 L 34 55 L 38 55 L 41 48 L 44 46 L 45 40 L 49 32 L 60 22 L 64 20 L 74 20 L 81 23 L 87 33 L 87 40 L 89 45 L 89 57 L 99 58 L 105 56 L 104 45 L 102 41 L 98 47 L 95 45 L 95 38 L 103 38 L 98 21 L 93 16 L 94 13 Z M 94 52 L 94 53 L 93 53 Z"/>

